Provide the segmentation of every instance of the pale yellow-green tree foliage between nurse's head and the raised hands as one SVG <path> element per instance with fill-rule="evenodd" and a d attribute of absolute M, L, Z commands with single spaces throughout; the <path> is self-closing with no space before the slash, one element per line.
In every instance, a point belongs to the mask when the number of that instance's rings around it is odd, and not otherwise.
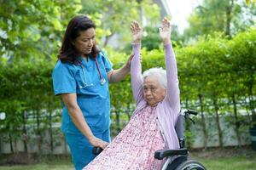
<path fill-rule="evenodd" d="M 98 26 L 97 36 L 102 41 L 102 46 L 106 47 L 118 35 L 118 47 L 125 48 L 127 42 L 131 42 L 130 25 L 131 21 L 138 20 L 142 23 L 142 18 L 148 24 L 154 24 L 160 20 L 160 9 L 152 0 L 129 0 L 129 1 L 102 1 L 95 0 L 88 2 L 82 0 L 84 14 L 96 16 Z M 125 8 L 124 8 L 125 7 Z"/>

